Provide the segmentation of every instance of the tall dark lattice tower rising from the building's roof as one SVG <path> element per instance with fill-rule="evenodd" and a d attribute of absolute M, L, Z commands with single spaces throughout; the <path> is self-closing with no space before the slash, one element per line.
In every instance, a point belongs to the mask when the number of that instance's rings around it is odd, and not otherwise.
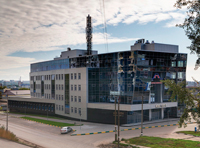
<path fill-rule="evenodd" d="M 87 55 L 92 54 L 92 23 L 91 16 L 88 14 L 87 16 L 87 27 L 86 27 L 86 41 L 87 41 Z"/>

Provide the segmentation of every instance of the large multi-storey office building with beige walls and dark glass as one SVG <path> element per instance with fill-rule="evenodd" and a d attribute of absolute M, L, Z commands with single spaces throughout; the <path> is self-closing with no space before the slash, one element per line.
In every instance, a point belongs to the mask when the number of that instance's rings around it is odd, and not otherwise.
<path fill-rule="evenodd" d="M 136 41 L 131 50 L 98 54 L 64 51 L 51 61 L 31 64 L 30 99 L 9 99 L 12 110 L 114 123 L 115 99 L 120 101 L 121 124 L 178 117 L 177 102 L 169 102 L 164 79 L 186 79 L 187 54 L 177 45 Z"/>

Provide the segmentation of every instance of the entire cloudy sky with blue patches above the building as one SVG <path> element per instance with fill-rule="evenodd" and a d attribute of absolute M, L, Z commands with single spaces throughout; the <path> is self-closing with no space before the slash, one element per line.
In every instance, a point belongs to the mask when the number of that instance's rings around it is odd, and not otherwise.
<path fill-rule="evenodd" d="M 104 1 L 104 3 L 103 3 Z M 86 49 L 86 17 L 92 17 L 93 50 L 98 53 L 130 50 L 137 39 L 179 45 L 188 53 L 187 81 L 200 81 L 194 70 L 197 56 L 190 40 L 176 27 L 186 8 L 176 0 L 1 0 L 0 80 L 29 80 L 30 64 L 53 60 L 61 51 Z M 103 7 L 104 6 L 104 7 Z M 104 34 L 107 26 L 107 42 Z"/>

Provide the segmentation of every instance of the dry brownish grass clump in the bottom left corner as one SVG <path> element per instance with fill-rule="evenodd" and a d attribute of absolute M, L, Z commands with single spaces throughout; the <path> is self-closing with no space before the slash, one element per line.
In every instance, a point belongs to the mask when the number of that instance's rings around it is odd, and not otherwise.
<path fill-rule="evenodd" d="M 10 131 L 6 131 L 4 126 L 0 127 L 0 137 L 11 140 L 11 141 L 18 142 L 18 138 L 15 136 L 15 134 L 13 134 Z"/>

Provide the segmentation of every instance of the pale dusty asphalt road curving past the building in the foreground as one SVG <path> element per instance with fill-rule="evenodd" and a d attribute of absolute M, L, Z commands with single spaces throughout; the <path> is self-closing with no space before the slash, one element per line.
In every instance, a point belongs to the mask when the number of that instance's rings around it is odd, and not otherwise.
<path fill-rule="evenodd" d="M 0 115 L 0 124 L 6 125 L 6 117 Z M 95 123 L 94 123 L 95 125 Z M 105 124 L 105 127 L 107 125 Z M 110 126 L 110 125 L 108 125 Z M 60 134 L 60 128 L 52 127 L 32 121 L 9 117 L 9 130 L 18 137 L 36 143 L 46 148 L 93 148 L 102 143 L 114 141 L 114 133 L 70 136 L 69 134 Z M 177 126 L 144 129 L 144 135 L 160 136 L 169 138 L 174 131 L 179 130 Z M 138 137 L 140 130 L 120 132 L 120 138 Z"/>

